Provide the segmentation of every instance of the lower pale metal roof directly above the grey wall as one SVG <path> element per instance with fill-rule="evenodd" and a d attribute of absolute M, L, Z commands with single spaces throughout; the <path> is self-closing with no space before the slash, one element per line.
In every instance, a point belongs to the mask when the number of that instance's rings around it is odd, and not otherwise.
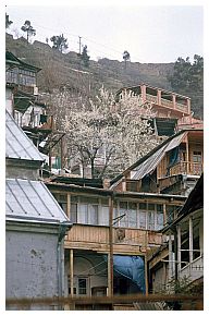
<path fill-rule="evenodd" d="M 69 221 L 47 186 L 40 181 L 5 180 L 7 219 L 29 221 Z"/>

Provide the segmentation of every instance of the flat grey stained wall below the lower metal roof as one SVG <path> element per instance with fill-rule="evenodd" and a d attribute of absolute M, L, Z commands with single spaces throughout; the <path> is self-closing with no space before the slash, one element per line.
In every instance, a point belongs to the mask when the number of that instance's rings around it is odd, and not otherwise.
<path fill-rule="evenodd" d="M 8 230 L 5 297 L 58 295 L 56 233 Z"/>

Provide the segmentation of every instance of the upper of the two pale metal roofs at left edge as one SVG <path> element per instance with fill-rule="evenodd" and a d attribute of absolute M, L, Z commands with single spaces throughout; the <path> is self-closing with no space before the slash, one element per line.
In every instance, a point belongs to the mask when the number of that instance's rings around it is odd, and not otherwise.
<path fill-rule="evenodd" d="M 5 157 L 44 161 L 36 146 L 8 111 L 5 112 Z"/>

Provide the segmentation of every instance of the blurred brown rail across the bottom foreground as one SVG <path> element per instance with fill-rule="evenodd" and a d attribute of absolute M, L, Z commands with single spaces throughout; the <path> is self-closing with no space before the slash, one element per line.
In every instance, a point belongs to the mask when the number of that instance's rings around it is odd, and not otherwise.
<path fill-rule="evenodd" d="M 137 304 L 136 304 L 137 303 Z M 202 311 L 204 296 L 202 295 L 159 295 L 159 294 L 134 294 L 134 295 L 119 295 L 119 296 L 67 296 L 67 297 L 37 297 L 37 299 L 7 299 L 7 309 L 53 309 L 53 311 L 69 311 L 69 309 L 95 309 L 95 311 L 112 311 L 114 305 L 121 306 L 120 309 L 150 309 L 150 306 L 175 306 L 179 311 Z M 168 304 L 170 303 L 170 304 Z M 143 306 L 143 307 L 142 307 Z M 177 307 L 177 308 L 176 308 Z M 155 309 L 155 307 L 152 307 Z M 170 308 L 170 309 L 173 309 Z"/>

